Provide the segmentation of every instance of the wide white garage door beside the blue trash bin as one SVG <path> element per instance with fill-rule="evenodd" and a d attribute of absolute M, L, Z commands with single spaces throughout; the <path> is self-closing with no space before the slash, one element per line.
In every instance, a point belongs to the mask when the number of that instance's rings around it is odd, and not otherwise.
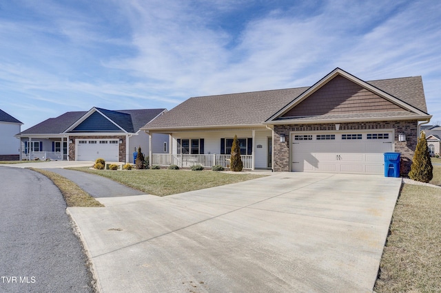
<path fill-rule="evenodd" d="M 384 174 L 392 131 L 291 135 L 291 171 Z"/>

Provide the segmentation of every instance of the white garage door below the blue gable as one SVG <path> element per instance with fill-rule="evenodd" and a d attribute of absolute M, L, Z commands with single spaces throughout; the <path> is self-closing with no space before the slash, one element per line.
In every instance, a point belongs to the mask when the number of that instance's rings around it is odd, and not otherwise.
<path fill-rule="evenodd" d="M 105 161 L 118 162 L 118 140 L 76 140 L 76 160 L 94 161 L 103 158 Z"/>

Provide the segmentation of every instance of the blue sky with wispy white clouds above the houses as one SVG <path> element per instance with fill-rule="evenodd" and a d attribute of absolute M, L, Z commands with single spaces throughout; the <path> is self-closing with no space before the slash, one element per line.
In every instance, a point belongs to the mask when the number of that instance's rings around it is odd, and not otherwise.
<path fill-rule="evenodd" d="M 0 109 L 22 130 L 92 107 L 309 86 L 336 67 L 362 80 L 422 76 L 441 122 L 441 2 L 0 3 Z"/>

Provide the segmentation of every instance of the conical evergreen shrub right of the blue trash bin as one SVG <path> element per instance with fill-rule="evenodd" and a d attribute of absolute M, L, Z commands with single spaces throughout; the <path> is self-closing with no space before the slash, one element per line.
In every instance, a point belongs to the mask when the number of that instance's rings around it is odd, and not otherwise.
<path fill-rule="evenodd" d="M 433 166 L 427 147 L 426 133 L 421 131 L 421 136 L 416 144 L 415 155 L 411 164 L 409 178 L 420 182 L 429 182 L 433 177 Z"/>

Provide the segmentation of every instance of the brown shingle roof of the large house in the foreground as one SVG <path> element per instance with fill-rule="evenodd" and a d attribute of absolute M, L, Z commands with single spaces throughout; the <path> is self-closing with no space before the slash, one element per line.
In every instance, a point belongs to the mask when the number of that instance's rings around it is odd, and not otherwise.
<path fill-rule="evenodd" d="M 421 76 L 372 80 L 367 83 L 427 112 Z M 189 98 L 165 115 L 146 124 L 143 129 L 257 125 L 307 89 L 309 87 Z"/>

